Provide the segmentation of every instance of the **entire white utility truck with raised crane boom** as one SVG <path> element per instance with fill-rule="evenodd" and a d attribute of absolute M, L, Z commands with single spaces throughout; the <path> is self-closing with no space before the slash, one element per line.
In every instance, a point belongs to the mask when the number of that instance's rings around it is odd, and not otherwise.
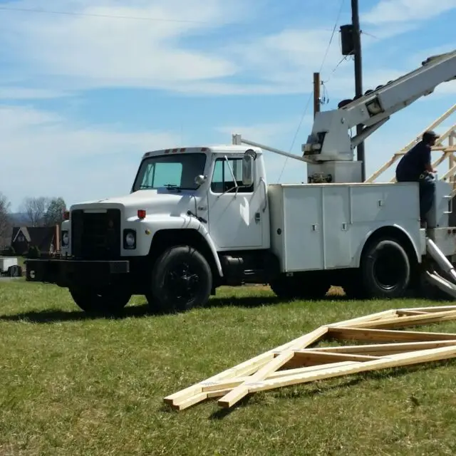
<path fill-rule="evenodd" d="M 453 51 L 317 113 L 302 156 L 240 135 L 147 152 L 129 195 L 71 207 L 61 256 L 28 260 L 26 280 L 66 287 L 81 309 L 106 313 L 133 294 L 157 311 L 190 309 L 242 284 L 270 284 L 285 299 L 322 298 L 331 285 L 353 297 L 416 296 L 423 283 L 456 296 L 451 185 L 436 181 L 421 228 L 418 183 L 363 183 L 353 160 L 390 115 L 455 78 Z M 268 185 L 264 150 L 306 162 L 308 183 Z"/>

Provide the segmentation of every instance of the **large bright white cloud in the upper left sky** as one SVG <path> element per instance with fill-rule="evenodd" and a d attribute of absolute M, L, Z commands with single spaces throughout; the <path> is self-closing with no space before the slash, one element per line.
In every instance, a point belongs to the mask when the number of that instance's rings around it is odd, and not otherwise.
<path fill-rule="evenodd" d="M 34 3 L 23 1 L 21 5 L 36 9 Z M 238 13 L 245 10 L 242 2 L 228 5 L 222 0 L 148 4 L 135 0 L 130 6 L 90 6 L 90 2 L 80 1 L 77 11 L 84 14 L 150 17 L 160 21 L 39 14 L 33 16 L 33 21 L 27 15 L 7 21 L 4 14 L 0 33 L 30 77 L 65 78 L 67 86 L 76 83 L 76 88 L 166 88 L 172 83 L 234 74 L 236 65 L 232 61 L 215 53 L 192 51 L 183 41 L 227 23 L 234 17 L 232 8 Z M 46 4 L 46 9 L 51 9 L 51 5 Z M 58 9 L 64 7 L 60 5 Z"/>

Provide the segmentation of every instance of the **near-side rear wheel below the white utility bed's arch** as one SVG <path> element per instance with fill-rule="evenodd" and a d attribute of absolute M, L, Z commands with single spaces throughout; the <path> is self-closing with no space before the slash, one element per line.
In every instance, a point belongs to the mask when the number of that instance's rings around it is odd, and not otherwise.
<path fill-rule="evenodd" d="M 368 298 L 403 297 L 410 289 L 411 271 L 408 254 L 396 239 L 375 239 L 361 258 L 358 294 Z"/>

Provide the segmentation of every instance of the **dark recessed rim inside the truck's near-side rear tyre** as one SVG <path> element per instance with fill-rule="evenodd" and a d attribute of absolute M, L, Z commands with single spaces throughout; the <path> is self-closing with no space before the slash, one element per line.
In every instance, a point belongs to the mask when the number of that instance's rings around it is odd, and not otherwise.
<path fill-rule="evenodd" d="M 373 262 L 373 276 L 384 290 L 395 289 L 405 279 L 403 256 L 394 247 L 385 247 L 378 252 Z"/>

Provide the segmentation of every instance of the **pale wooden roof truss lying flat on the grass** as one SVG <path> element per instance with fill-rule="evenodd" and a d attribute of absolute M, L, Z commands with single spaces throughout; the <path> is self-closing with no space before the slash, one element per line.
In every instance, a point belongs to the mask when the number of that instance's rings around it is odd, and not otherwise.
<path fill-rule="evenodd" d="M 231 408 L 258 391 L 455 358 L 456 333 L 398 331 L 450 320 L 456 320 L 456 306 L 393 309 L 321 326 L 164 400 L 176 410 L 209 398 Z M 318 346 L 321 341 L 357 344 Z"/>

